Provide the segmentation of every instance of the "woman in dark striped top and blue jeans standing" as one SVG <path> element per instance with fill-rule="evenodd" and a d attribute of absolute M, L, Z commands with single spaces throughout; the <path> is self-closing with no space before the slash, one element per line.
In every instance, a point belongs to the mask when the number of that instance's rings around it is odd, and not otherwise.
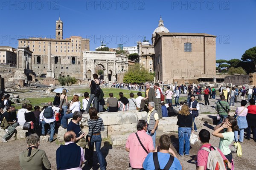
<path fill-rule="evenodd" d="M 96 108 L 89 109 L 90 119 L 88 120 L 89 132 L 88 132 L 88 145 L 89 149 L 93 151 L 94 143 L 96 148 L 97 157 L 99 160 L 100 170 L 106 169 L 106 161 L 103 157 L 100 147 L 102 143 L 102 137 L 100 131 L 105 129 L 103 121 L 97 116 L 98 112 Z M 93 155 L 89 160 L 89 164 L 93 164 Z"/>

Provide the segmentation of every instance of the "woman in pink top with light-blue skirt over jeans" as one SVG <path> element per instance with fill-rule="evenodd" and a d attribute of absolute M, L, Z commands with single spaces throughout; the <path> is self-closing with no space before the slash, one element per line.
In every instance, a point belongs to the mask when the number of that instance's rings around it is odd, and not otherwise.
<path fill-rule="evenodd" d="M 246 100 L 241 101 L 241 107 L 236 108 L 236 119 L 237 119 L 237 125 L 239 126 L 239 140 L 238 138 L 238 131 L 234 131 L 234 136 L 235 136 L 235 141 L 243 142 L 244 141 L 244 129 L 248 127 L 247 125 L 247 120 L 246 120 L 246 115 L 248 112 L 248 109 L 245 108 L 247 102 Z"/>

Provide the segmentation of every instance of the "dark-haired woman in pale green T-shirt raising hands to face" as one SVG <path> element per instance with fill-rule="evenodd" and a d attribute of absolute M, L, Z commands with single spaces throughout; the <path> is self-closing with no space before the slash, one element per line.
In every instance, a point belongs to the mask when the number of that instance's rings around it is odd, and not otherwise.
<path fill-rule="evenodd" d="M 227 117 L 224 122 L 214 127 L 213 136 L 220 138 L 219 149 L 226 156 L 228 161 L 233 164 L 233 157 L 230 144 L 234 140 L 234 131 L 238 130 L 237 120 L 234 117 Z"/>

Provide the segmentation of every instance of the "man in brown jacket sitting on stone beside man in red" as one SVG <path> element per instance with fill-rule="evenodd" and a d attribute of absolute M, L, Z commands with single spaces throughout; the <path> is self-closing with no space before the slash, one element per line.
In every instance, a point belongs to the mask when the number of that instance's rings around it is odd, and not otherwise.
<path fill-rule="evenodd" d="M 140 111 L 148 111 L 147 108 L 145 108 L 145 104 L 149 103 L 149 102 L 156 102 L 156 96 L 155 96 L 155 92 L 154 89 L 150 87 L 149 82 L 145 82 L 145 97 L 141 100 L 140 102 Z M 146 109 L 146 110 L 145 110 Z"/>

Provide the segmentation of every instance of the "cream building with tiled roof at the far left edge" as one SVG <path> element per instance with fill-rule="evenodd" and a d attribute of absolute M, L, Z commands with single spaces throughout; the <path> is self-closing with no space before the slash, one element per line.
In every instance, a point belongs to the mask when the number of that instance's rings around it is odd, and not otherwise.
<path fill-rule="evenodd" d="M 16 50 L 10 46 L 0 46 L 0 64 L 15 66 L 17 59 Z"/>

